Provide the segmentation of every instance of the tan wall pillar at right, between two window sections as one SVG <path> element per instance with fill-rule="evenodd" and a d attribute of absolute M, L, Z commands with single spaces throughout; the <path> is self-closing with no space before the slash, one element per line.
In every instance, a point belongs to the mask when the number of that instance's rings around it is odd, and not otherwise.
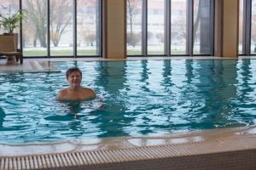
<path fill-rule="evenodd" d="M 239 0 L 216 0 L 215 7 L 215 55 L 236 58 L 239 40 Z"/>

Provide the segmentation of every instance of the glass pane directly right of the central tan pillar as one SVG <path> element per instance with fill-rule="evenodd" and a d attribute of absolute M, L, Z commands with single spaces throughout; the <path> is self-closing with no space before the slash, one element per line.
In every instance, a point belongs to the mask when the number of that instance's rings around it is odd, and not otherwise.
<path fill-rule="evenodd" d="M 127 54 L 141 55 L 143 42 L 143 0 L 127 0 Z"/>

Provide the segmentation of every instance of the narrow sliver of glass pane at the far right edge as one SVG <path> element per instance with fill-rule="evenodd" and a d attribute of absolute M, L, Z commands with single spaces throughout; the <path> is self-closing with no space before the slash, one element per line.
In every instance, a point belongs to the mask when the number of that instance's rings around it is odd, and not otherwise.
<path fill-rule="evenodd" d="M 256 0 L 252 0 L 251 53 L 256 54 Z"/>

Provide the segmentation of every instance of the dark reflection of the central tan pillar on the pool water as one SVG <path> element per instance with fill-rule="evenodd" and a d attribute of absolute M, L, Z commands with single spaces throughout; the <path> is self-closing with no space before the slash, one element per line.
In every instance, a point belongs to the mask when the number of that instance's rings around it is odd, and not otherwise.
<path fill-rule="evenodd" d="M 110 136 L 126 136 L 128 133 L 124 131 L 126 126 L 130 126 L 128 119 L 125 119 L 125 98 L 122 90 L 126 82 L 125 62 L 98 62 L 96 67 L 98 72 L 96 85 L 102 86 L 104 90 L 103 103 L 106 104 L 101 111 L 92 111 L 91 115 L 95 115 L 96 119 L 91 120 L 97 123 L 101 134 L 99 137 Z M 125 121 L 126 120 L 126 121 Z M 100 123 L 99 123 L 100 122 Z"/>

